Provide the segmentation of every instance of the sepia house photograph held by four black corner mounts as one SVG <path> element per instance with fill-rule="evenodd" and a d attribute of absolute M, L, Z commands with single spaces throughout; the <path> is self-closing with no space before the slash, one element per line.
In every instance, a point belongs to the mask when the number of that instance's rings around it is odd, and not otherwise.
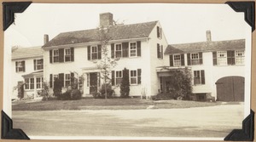
<path fill-rule="evenodd" d="M 228 4 L 32 3 L 4 31 L 3 111 L 30 139 L 224 140 L 250 114 Z"/>

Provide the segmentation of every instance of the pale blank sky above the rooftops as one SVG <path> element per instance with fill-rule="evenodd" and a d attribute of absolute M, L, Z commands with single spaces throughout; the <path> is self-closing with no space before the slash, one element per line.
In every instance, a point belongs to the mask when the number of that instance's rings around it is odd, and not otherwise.
<path fill-rule="evenodd" d="M 44 34 L 50 40 L 61 32 L 96 28 L 104 12 L 124 24 L 159 20 L 169 44 L 206 41 L 207 30 L 212 41 L 246 38 L 248 26 L 244 14 L 227 4 L 32 3 L 25 12 L 15 14 L 15 23 L 4 32 L 5 46 L 41 46 Z"/>

